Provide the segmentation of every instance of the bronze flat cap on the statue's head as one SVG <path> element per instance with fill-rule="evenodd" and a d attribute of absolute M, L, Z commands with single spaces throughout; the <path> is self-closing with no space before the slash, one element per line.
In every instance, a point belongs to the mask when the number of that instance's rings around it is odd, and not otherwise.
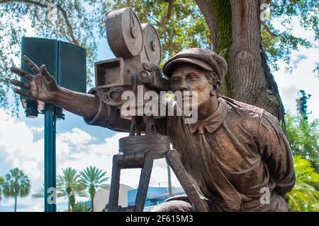
<path fill-rule="evenodd" d="M 174 66 L 181 62 L 195 64 L 205 71 L 214 71 L 220 78 L 220 81 L 227 72 L 225 59 L 216 54 L 216 52 L 211 49 L 192 48 L 185 49 L 166 61 L 163 66 L 164 74 L 167 77 L 172 76 Z"/>

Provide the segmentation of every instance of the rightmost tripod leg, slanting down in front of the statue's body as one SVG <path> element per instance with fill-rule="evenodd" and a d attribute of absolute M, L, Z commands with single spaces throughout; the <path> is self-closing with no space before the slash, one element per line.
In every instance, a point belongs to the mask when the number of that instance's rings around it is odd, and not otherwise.
<path fill-rule="evenodd" d="M 181 164 L 179 153 L 177 150 L 168 150 L 166 153 L 167 163 L 172 167 L 177 179 L 181 183 L 186 195 L 189 197 L 189 201 L 194 205 L 196 211 L 208 212 L 208 206 L 203 199 L 199 196 L 195 189 L 194 184 L 191 182 L 189 175 L 186 173 L 184 166 Z"/>

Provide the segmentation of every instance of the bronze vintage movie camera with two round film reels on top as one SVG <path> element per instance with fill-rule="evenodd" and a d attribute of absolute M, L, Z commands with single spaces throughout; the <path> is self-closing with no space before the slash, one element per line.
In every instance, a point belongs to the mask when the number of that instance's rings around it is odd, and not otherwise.
<path fill-rule="evenodd" d="M 117 58 L 95 64 L 96 90 L 103 102 L 121 108 L 126 101 L 121 99 L 122 93 L 129 90 L 137 94 L 138 85 L 142 85 L 143 93 L 169 90 L 159 69 L 161 44 L 150 23 L 141 24 L 131 8 L 122 8 L 108 14 L 106 35 Z M 136 102 L 137 108 L 140 105 L 145 102 Z"/>

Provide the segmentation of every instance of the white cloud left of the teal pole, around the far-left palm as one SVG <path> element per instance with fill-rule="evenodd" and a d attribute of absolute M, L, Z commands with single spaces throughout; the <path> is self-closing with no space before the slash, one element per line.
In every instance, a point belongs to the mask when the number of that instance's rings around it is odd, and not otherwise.
<path fill-rule="evenodd" d="M 33 141 L 33 132 L 38 129 L 29 128 L 25 122 L 9 117 L 4 110 L 0 110 L 0 158 L 5 162 L 1 168 L 13 169 L 18 167 L 28 175 L 31 181 L 31 194 L 43 181 L 43 140 Z M 0 172 L 4 175 L 8 172 Z M 4 198 L 0 210 L 4 207 L 11 210 L 13 199 Z M 19 206 L 28 206 L 28 211 L 40 211 L 42 202 L 28 198 L 18 198 Z M 12 208 L 13 210 L 13 208 Z M 18 210 L 22 210 L 19 209 Z"/>

